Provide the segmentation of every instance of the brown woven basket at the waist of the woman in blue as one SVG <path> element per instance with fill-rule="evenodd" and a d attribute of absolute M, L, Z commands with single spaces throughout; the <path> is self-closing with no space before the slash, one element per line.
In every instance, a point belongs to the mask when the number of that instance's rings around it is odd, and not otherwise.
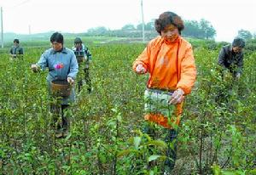
<path fill-rule="evenodd" d="M 53 80 L 51 83 L 51 92 L 55 96 L 68 97 L 71 93 L 71 85 L 66 80 Z"/>

